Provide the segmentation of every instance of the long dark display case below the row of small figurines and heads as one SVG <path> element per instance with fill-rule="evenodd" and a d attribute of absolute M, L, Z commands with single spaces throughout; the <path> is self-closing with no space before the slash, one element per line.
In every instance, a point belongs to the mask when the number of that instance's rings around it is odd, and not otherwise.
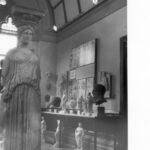
<path fill-rule="evenodd" d="M 43 111 L 42 116 L 47 124 L 46 142 L 50 143 L 51 148 L 77 149 L 76 130 L 80 123 L 84 131 L 81 150 L 119 150 L 121 130 L 119 115 L 94 117 Z M 59 136 L 59 142 L 56 134 Z M 59 145 L 56 146 L 56 143 Z"/>

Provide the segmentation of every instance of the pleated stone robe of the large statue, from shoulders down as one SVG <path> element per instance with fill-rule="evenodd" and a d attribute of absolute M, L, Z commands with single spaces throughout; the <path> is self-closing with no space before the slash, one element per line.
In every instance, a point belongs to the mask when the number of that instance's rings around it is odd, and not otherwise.
<path fill-rule="evenodd" d="M 27 48 L 10 51 L 2 76 L 2 98 L 7 103 L 5 150 L 41 150 L 38 57 Z"/>

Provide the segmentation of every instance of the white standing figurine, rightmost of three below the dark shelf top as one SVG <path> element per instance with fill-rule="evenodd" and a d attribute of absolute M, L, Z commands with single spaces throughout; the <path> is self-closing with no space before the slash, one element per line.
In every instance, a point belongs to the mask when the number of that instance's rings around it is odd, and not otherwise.
<path fill-rule="evenodd" d="M 79 123 L 78 127 L 75 130 L 75 140 L 77 144 L 76 150 L 83 150 L 83 137 L 84 137 L 84 130 L 82 128 L 82 124 Z"/>

